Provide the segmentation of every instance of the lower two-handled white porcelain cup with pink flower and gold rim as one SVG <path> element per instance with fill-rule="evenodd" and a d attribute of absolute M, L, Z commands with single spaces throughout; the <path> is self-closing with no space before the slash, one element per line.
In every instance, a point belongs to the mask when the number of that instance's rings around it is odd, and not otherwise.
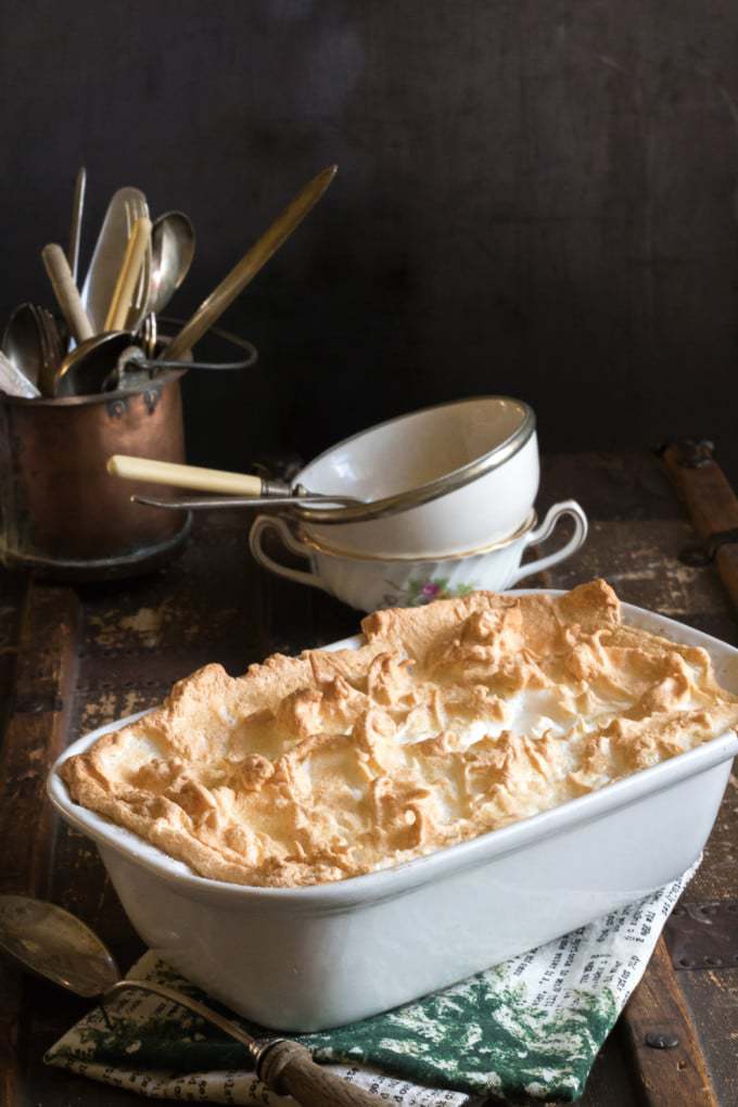
<path fill-rule="evenodd" d="M 559 520 L 567 516 L 574 520 L 574 534 L 569 541 L 553 554 L 521 566 L 528 547 L 549 538 Z M 292 554 L 310 561 L 309 572 L 280 565 L 266 552 L 262 542 L 270 530 L 277 532 Z M 555 504 L 534 530 L 499 549 L 466 557 L 417 560 L 342 557 L 299 541 L 283 519 L 271 515 L 260 515 L 254 519 L 249 545 L 259 565 L 280 577 L 321 588 L 360 611 L 377 611 L 380 608 L 417 607 L 478 589 L 505 591 L 526 577 L 571 557 L 584 542 L 586 530 L 584 511 L 575 500 L 568 499 Z"/>

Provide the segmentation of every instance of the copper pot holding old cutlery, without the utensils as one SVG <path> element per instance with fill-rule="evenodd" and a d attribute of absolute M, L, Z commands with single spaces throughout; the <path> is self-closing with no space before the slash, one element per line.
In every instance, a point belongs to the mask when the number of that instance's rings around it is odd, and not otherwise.
<path fill-rule="evenodd" d="M 133 576 L 184 544 L 189 514 L 131 501 L 146 484 L 107 474 L 111 454 L 185 459 L 179 377 L 58 400 L 0 394 L 0 559 L 67 580 Z"/>

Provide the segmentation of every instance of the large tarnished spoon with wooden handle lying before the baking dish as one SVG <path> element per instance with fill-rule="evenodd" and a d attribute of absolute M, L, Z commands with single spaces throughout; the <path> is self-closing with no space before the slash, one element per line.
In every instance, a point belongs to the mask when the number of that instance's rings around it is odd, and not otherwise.
<path fill-rule="evenodd" d="M 177 1003 L 246 1047 L 257 1076 L 303 1107 L 376 1107 L 378 1099 L 316 1065 L 304 1046 L 284 1038 L 259 1042 L 237 1023 L 164 984 L 121 980 L 107 946 L 81 919 L 43 900 L 0 896 L 0 949 L 39 976 L 85 999 L 135 989 Z M 105 1008 L 103 1007 L 105 1013 Z"/>

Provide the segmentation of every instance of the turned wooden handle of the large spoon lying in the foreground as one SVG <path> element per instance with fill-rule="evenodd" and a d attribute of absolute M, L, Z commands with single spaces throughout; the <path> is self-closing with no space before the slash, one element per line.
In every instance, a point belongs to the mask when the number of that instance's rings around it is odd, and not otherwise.
<path fill-rule="evenodd" d="M 384 1100 L 316 1065 L 297 1042 L 274 1042 L 259 1057 L 257 1075 L 280 1096 L 302 1107 L 377 1107 Z"/>

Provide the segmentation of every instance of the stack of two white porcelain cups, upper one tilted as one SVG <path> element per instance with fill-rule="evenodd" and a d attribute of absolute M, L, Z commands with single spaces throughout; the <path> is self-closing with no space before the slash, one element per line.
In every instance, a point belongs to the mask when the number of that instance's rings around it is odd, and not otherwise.
<path fill-rule="evenodd" d="M 343 507 L 293 507 L 260 515 L 249 536 L 260 565 L 320 588 L 363 611 L 408 607 L 477 589 L 502 591 L 563 561 L 586 538 L 575 500 L 555 504 L 537 525 L 540 478 L 536 416 L 507 396 L 477 396 L 402 415 L 331 447 L 299 474 Z M 522 562 L 570 517 L 558 550 Z M 309 570 L 274 560 L 272 532 Z"/>

